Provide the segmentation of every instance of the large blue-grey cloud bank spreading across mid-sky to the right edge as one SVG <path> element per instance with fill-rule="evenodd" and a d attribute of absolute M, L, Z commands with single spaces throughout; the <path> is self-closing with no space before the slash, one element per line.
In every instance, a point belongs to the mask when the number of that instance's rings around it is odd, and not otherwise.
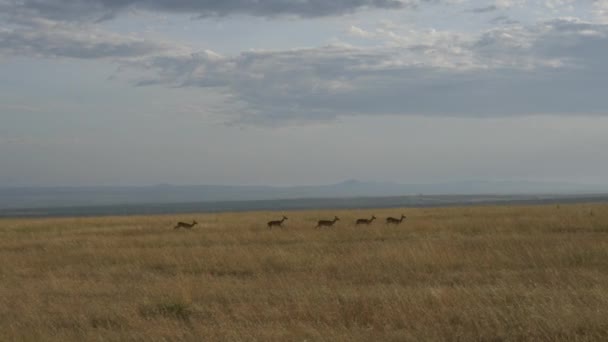
<path fill-rule="evenodd" d="M 402 46 L 153 57 L 145 70 L 154 73 L 140 84 L 221 89 L 245 122 L 608 114 L 605 25 L 560 19 L 446 36 Z"/>

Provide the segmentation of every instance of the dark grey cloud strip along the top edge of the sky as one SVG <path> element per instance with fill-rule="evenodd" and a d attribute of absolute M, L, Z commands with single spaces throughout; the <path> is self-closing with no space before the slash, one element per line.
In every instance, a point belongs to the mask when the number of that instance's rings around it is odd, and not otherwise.
<path fill-rule="evenodd" d="M 53 20 L 104 20 L 134 8 L 200 17 L 322 17 L 365 8 L 412 8 L 431 1 L 437 0 L 0 0 L 0 12 Z"/>

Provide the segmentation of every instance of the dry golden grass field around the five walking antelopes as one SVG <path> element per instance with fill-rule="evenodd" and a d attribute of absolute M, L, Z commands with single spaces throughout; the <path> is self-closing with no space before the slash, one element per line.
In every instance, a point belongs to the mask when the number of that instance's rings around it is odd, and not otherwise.
<path fill-rule="evenodd" d="M 608 340 L 606 204 L 2 219 L 0 262 L 0 341 Z"/>

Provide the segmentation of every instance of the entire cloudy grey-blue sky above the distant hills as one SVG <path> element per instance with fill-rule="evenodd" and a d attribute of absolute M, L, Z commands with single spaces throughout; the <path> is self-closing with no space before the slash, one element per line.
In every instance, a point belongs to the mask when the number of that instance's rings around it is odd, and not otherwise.
<path fill-rule="evenodd" d="M 608 0 L 0 0 L 0 187 L 608 184 Z"/>

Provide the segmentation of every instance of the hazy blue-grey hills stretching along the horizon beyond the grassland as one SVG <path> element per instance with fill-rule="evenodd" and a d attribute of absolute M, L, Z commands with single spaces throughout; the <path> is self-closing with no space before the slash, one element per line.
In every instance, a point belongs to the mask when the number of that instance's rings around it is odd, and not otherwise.
<path fill-rule="evenodd" d="M 451 182 L 398 184 L 345 182 L 318 186 L 157 185 L 148 187 L 21 187 L 0 188 L 0 209 L 170 204 L 194 202 L 329 199 L 423 195 L 599 194 L 608 186 L 557 182 Z"/>

